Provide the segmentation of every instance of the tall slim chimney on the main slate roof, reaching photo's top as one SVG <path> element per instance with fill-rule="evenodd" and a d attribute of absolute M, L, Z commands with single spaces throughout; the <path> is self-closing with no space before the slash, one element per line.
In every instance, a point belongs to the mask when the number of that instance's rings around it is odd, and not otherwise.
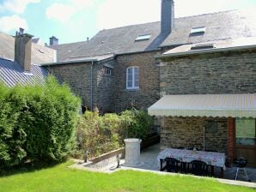
<path fill-rule="evenodd" d="M 174 29 L 174 0 L 162 0 L 161 33 L 168 35 Z"/>

